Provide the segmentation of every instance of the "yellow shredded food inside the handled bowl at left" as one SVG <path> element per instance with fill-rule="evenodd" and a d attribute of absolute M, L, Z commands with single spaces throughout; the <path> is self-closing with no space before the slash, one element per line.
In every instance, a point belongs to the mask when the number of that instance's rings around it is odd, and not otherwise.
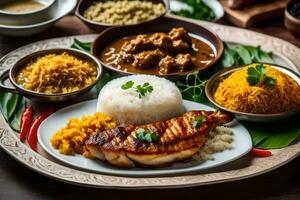
<path fill-rule="evenodd" d="M 48 54 L 28 63 L 16 76 L 22 87 L 46 94 L 70 93 L 91 85 L 96 67 L 67 53 Z"/>

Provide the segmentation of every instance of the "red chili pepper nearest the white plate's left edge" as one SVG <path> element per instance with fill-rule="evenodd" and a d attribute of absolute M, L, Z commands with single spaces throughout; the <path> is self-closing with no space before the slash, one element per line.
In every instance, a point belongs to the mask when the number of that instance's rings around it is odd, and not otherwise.
<path fill-rule="evenodd" d="M 52 107 L 48 108 L 47 110 L 40 113 L 40 115 L 33 121 L 32 126 L 28 133 L 28 144 L 30 148 L 34 151 L 37 150 L 37 130 L 42 123 L 49 115 L 54 112 Z"/>

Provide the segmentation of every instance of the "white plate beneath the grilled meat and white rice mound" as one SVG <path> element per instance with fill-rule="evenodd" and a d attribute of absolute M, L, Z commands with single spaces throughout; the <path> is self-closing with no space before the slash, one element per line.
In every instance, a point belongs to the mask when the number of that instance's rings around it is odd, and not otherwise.
<path fill-rule="evenodd" d="M 64 127 L 71 117 L 81 117 L 83 114 L 91 115 L 96 110 L 96 100 L 85 101 L 66 108 L 63 108 L 49 118 L 47 118 L 40 126 L 38 130 L 38 141 L 42 148 L 56 159 L 69 164 L 73 167 L 78 167 L 84 170 L 113 174 L 121 176 L 151 176 L 151 175 L 171 175 L 181 173 L 191 173 L 195 171 L 201 171 L 223 165 L 230 161 L 236 160 L 243 155 L 247 154 L 251 147 L 251 138 L 248 131 L 238 122 L 231 123 L 230 128 L 233 131 L 233 148 L 221 153 L 214 154 L 214 160 L 205 162 L 192 161 L 189 163 L 176 163 L 172 167 L 158 168 L 158 169 L 146 169 L 146 168 L 134 168 L 134 169 L 122 169 L 111 166 L 105 162 L 99 160 L 90 160 L 84 158 L 81 155 L 63 155 L 58 153 L 51 144 L 50 138 L 60 128 Z M 184 107 L 187 111 L 190 110 L 212 110 L 212 108 L 194 103 L 191 101 L 184 101 Z"/>

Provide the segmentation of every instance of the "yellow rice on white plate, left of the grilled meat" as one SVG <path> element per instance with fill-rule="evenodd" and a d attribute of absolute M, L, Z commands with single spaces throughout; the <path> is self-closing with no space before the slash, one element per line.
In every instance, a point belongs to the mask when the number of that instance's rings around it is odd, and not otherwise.
<path fill-rule="evenodd" d="M 91 158 L 92 155 L 85 148 L 85 141 L 92 135 L 112 129 L 117 123 L 109 116 L 96 112 L 92 116 L 81 119 L 71 118 L 64 128 L 58 130 L 51 138 L 51 145 L 60 153 L 72 155 L 82 154 Z"/>

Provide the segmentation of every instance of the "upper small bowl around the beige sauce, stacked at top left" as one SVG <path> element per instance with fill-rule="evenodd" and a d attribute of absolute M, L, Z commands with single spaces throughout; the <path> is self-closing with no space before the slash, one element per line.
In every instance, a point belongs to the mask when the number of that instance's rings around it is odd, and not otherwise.
<path fill-rule="evenodd" d="M 0 6 L 17 1 L 19 0 L 1 0 Z M 53 13 L 57 9 L 57 1 L 37 0 L 37 2 L 43 4 L 44 6 L 40 9 L 28 12 L 9 12 L 0 10 L 0 24 L 22 26 L 36 24 L 51 19 Z"/>

